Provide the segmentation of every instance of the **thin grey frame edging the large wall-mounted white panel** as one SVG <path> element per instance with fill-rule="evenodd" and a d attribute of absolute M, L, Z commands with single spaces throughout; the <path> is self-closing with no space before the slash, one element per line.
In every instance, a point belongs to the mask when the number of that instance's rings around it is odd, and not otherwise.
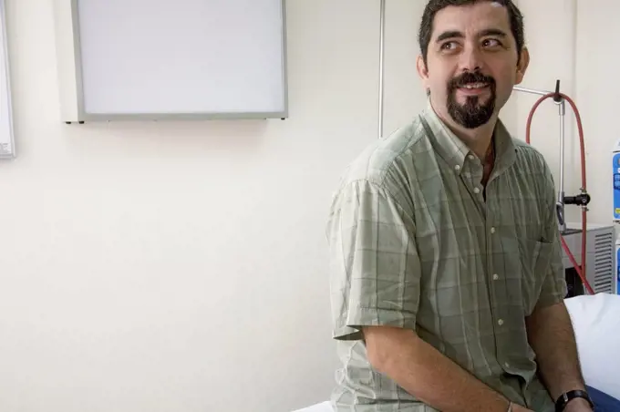
<path fill-rule="evenodd" d="M 288 64 L 286 53 L 286 5 L 282 3 L 282 85 L 284 97 L 283 111 L 275 112 L 195 112 L 195 113 L 88 113 L 84 105 L 84 81 L 82 72 L 82 54 L 79 31 L 78 0 L 71 2 L 71 21 L 73 23 L 73 58 L 75 62 L 75 79 L 77 87 L 77 120 L 82 121 L 107 121 L 107 120 L 218 120 L 218 119 L 266 119 L 288 118 Z M 67 123 L 71 121 L 67 119 Z M 76 119 L 74 119 L 76 120 Z"/>

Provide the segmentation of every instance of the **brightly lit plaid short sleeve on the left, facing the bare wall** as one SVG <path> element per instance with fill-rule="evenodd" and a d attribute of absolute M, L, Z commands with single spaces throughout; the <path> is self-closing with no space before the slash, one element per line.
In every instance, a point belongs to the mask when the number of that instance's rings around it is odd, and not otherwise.
<path fill-rule="evenodd" d="M 415 329 L 420 263 L 412 211 L 376 183 L 356 180 L 336 194 L 327 224 L 334 338 L 361 328 Z"/>

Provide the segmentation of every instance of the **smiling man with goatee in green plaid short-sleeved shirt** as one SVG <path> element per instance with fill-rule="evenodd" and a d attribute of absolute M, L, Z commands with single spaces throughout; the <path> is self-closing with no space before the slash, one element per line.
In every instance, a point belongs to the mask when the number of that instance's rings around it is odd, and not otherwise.
<path fill-rule="evenodd" d="M 593 410 L 552 173 L 498 119 L 523 43 L 510 0 L 426 6 L 429 107 L 349 166 L 329 215 L 335 410 Z"/>

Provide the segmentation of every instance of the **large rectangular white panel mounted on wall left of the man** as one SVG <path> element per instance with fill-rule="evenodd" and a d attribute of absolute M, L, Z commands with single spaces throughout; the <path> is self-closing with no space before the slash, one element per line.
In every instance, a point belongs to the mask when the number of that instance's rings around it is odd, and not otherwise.
<path fill-rule="evenodd" d="M 287 116 L 284 0 L 72 3 L 82 118 Z"/>

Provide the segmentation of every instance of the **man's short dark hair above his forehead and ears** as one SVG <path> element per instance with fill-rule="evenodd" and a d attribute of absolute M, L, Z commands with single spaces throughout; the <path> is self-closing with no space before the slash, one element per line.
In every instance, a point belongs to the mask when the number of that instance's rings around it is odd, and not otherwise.
<path fill-rule="evenodd" d="M 429 0 L 429 3 L 424 8 L 424 14 L 422 15 L 422 23 L 419 26 L 418 42 L 419 48 L 422 52 L 422 58 L 424 59 L 424 65 L 428 67 L 428 54 L 430 36 L 433 33 L 433 22 L 435 21 L 435 15 L 449 5 L 473 5 L 480 1 L 488 1 L 499 3 L 508 9 L 508 18 L 511 22 L 511 32 L 517 42 L 517 57 L 521 60 L 521 51 L 525 44 L 525 35 L 523 34 L 523 15 L 519 8 L 517 8 L 511 0 Z"/>

